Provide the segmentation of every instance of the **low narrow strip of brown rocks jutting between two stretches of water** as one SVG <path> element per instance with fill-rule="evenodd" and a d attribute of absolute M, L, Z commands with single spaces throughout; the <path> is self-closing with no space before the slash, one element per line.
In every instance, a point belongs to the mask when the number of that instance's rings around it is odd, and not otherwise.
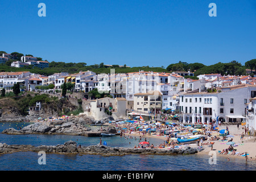
<path fill-rule="evenodd" d="M 184 149 L 158 149 L 158 148 L 125 148 L 125 147 L 108 147 L 104 145 L 94 146 L 79 146 L 77 143 L 69 140 L 64 144 L 57 144 L 56 146 L 41 145 L 38 147 L 25 145 L 25 144 L 6 144 L 0 143 L 0 154 L 11 154 L 13 152 L 39 152 L 44 151 L 52 154 L 90 154 L 90 155 L 102 155 L 102 156 L 114 156 L 114 155 L 189 155 L 200 152 L 201 148 L 186 147 Z"/>

